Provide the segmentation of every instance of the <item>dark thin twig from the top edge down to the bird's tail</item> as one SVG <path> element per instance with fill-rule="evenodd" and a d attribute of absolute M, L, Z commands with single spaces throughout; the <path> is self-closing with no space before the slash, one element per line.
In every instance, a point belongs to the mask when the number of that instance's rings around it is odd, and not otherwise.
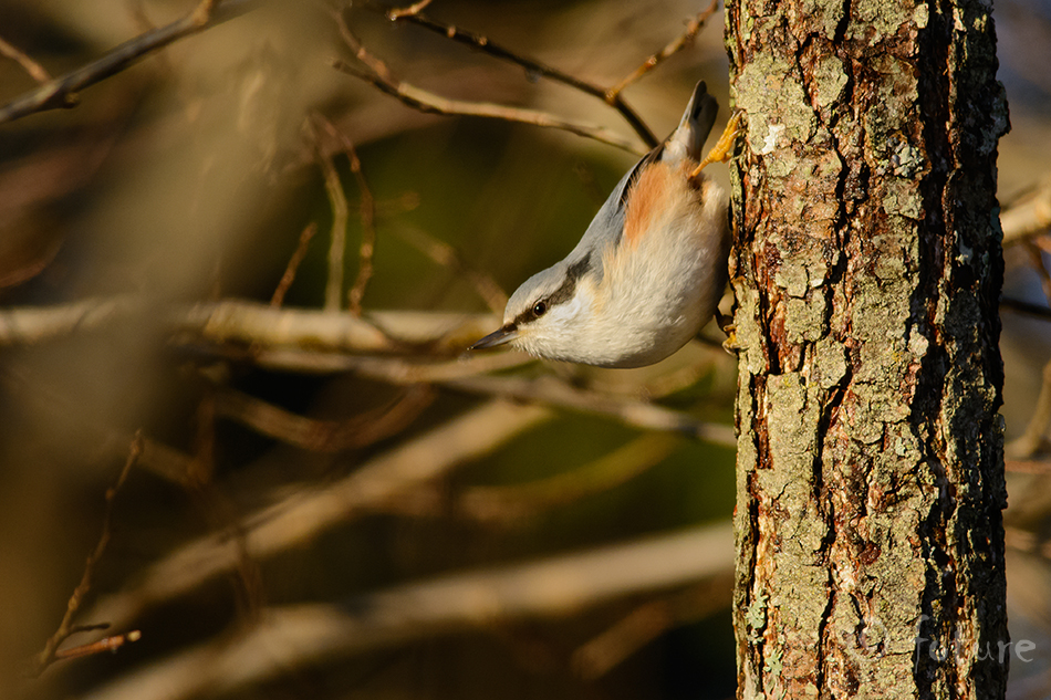
<path fill-rule="evenodd" d="M 450 39 L 457 43 L 468 45 L 502 61 L 508 61 L 519 65 L 524 69 L 526 73 L 530 76 L 545 77 L 597 97 L 615 108 L 621 114 L 621 116 L 624 117 L 624 119 L 631 125 L 643 143 L 646 144 L 647 148 L 653 148 L 659 143 L 653 135 L 653 132 L 649 130 L 649 127 L 646 126 L 645 122 L 643 122 L 642 117 L 639 117 L 638 114 L 621 98 L 618 93 L 613 93 L 612 91 L 603 88 L 601 85 L 595 85 L 594 83 L 583 81 L 574 75 L 564 73 L 534 59 L 526 58 L 519 53 L 516 53 L 514 51 L 511 51 L 510 49 L 507 49 L 506 46 L 493 42 L 488 36 L 482 34 L 477 34 L 475 32 L 454 27 L 452 24 L 434 20 L 420 13 L 419 11 L 391 12 L 388 8 L 379 6 L 375 2 L 365 2 L 364 7 L 374 12 L 382 13 L 392 22 L 409 22 L 412 24 L 416 24 L 417 27 L 423 27 L 424 29 L 437 34 L 441 34 L 443 36 L 446 36 L 447 39 Z"/>

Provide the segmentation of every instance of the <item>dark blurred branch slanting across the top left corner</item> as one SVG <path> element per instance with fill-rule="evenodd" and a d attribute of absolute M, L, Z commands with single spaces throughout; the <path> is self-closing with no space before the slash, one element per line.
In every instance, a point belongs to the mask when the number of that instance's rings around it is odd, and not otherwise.
<path fill-rule="evenodd" d="M 139 59 L 168 44 L 216 27 L 253 10 L 260 0 L 201 0 L 192 12 L 135 39 L 124 42 L 107 54 L 85 66 L 56 77 L 40 87 L 0 106 L 0 124 L 13 122 L 29 114 L 72 107 L 76 93 L 124 71 Z"/>

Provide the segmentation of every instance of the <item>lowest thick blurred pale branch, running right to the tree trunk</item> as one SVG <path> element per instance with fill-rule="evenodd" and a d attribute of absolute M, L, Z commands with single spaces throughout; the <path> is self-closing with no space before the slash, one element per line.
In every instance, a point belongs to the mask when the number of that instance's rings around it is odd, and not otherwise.
<path fill-rule="evenodd" d="M 204 644 L 93 691 L 93 700 L 231 693 L 337 657 L 486 629 L 668 589 L 733 568 L 729 524 L 696 527 L 533 563 L 407 584 L 342 605 L 274 607 L 236 639 Z"/>

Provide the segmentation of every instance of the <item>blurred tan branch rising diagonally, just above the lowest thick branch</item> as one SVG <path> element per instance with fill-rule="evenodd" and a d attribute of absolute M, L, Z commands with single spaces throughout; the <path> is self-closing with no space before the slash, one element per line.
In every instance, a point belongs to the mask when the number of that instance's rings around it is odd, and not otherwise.
<path fill-rule="evenodd" d="M 304 485 L 241 520 L 244 547 L 257 561 L 305 546 L 323 532 L 445 477 L 547 420 L 535 406 L 489 401 L 358 467 L 330 484 Z M 189 593 L 238 565 L 237 543 L 222 532 L 185 544 L 150 566 L 138 586 L 98 603 L 94 615 L 121 626 L 149 606 Z"/>

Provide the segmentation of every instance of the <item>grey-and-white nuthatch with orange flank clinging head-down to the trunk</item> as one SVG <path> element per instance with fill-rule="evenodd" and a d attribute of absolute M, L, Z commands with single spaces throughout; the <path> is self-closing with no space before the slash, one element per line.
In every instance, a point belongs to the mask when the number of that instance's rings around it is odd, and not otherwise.
<path fill-rule="evenodd" d="M 716 312 L 727 279 L 726 195 L 698 163 L 719 103 L 697 84 L 678 127 L 621 178 L 584 237 L 508 301 L 503 326 L 470 349 L 509 343 L 549 359 L 639 367 L 683 347 Z"/>

